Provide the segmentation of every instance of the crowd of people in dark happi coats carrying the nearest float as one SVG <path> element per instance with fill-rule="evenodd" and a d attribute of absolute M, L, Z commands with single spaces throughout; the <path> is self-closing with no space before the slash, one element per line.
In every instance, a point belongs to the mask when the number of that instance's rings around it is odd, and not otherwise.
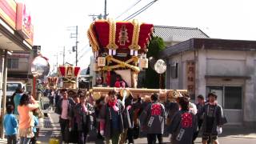
<path fill-rule="evenodd" d="M 202 143 L 218 143 L 218 134 L 226 123 L 217 95 L 208 94 L 205 101 L 198 95 L 197 104 L 186 94 L 173 101 L 159 101 L 159 94 L 142 96 L 122 94 L 111 90 L 94 101 L 90 92 L 61 91 L 55 112 L 59 114 L 62 142 L 86 143 L 90 130 L 106 143 L 134 143 L 146 134 L 147 142 L 163 143 L 163 134 L 170 134 L 170 142 L 191 144 L 202 133 Z"/>

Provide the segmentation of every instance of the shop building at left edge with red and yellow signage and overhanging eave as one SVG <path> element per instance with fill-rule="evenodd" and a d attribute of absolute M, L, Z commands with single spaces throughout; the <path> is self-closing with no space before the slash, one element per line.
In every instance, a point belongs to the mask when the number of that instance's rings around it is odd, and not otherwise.
<path fill-rule="evenodd" d="M 14 0 L 0 1 L 0 100 L 6 97 L 7 67 L 15 70 L 18 66 L 17 58 L 14 58 L 15 51 L 28 53 L 32 50 L 33 25 L 30 14 L 26 11 L 24 3 L 17 3 Z M 14 54 L 14 55 L 12 55 Z M 10 59 L 9 62 L 8 59 Z M 26 59 L 26 58 L 25 58 Z M 27 64 L 22 69 L 27 68 Z M 18 72 L 18 71 L 17 71 Z M 2 85 L 3 84 L 3 85 Z M 0 102 L 2 103 L 2 102 Z"/>

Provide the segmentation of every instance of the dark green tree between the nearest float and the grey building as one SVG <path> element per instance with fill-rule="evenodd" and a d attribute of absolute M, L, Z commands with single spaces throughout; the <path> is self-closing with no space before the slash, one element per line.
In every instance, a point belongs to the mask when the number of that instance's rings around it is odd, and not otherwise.
<path fill-rule="evenodd" d="M 149 51 L 146 54 L 147 58 L 153 57 L 157 60 L 159 52 L 165 49 L 166 49 L 166 45 L 163 42 L 162 38 L 152 37 L 150 44 L 148 46 Z M 162 74 L 162 77 L 163 77 L 162 79 L 164 79 L 165 74 Z M 148 69 L 146 69 L 145 84 L 147 88 L 154 88 L 154 89 L 159 88 L 159 74 L 156 73 L 153 67 L 151 66 L 149 66 Z"/>

